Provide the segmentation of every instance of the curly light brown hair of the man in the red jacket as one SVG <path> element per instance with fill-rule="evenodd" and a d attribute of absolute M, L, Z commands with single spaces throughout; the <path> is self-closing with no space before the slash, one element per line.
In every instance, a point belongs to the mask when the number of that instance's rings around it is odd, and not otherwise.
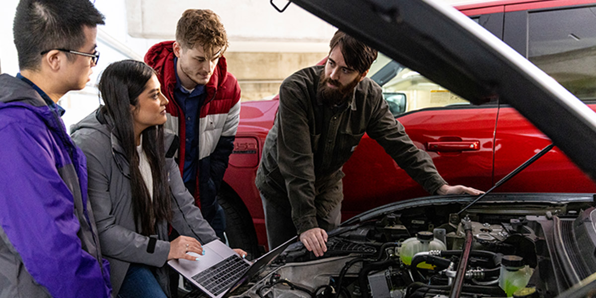
<path fill-rule="evenodd" d="M 211 10 L 186 10 L 176 26 L 176 41 L 182 48 L 203 46 L 206 55 L 223 55 L 228 48 L 228 36 L 219 15 Z"/>

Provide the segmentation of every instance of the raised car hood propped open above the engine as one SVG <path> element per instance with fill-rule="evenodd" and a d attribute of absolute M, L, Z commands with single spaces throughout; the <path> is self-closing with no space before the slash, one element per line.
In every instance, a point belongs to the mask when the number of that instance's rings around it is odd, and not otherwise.
<path fill-rule="evenodd" d="M 516 108 L 596 177 L 596 113 L 510 46 L 434 0 L 293 0 L 474 104 Z"/>

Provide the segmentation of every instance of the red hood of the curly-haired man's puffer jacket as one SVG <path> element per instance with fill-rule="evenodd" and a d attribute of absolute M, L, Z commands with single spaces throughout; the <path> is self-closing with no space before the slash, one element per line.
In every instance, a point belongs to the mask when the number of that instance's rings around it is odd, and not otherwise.
<path fill-rule="evenodd" d="M 151 46 L 147 54 L 145 54 L 145 63 L 153 67 L 156 70 L 157 75 L 162 77 L 164 82 L 167 84 L 176 84 L 176 73 L 174 72 L 173 65 L 174 54 L 173 50 L 174 41 L 164 41 L 159 44 Z M 207 85 L 205 85 L 208 94 L 212 94 L 213 91 L 219 89 L 226 82 L 228 77 L 228 63 L 224 56 L 219 58 L 218 65 L 213 70 L 213 75 Z M 162 86 L 162 89 L 164 87 Z M 173 88 L 173 86 L 172 86 Z"/>

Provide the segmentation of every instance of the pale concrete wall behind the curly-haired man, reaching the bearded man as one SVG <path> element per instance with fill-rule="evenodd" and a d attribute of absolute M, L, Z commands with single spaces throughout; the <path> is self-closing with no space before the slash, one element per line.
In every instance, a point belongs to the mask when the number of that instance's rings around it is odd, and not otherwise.
<path fill-rule="evenodd" d="M 162 0 L 125 0 L 125 3 L 128 33 L 136 38 L 173 39 L 176 21 L 184 10 L 215 11 L 228 33 L 230 47 L 225 56 L 229 71 L 240 83 L 243 101 L 277 94 L 285 77 L 327 55 L 328 41 L 336 30 L 295 4 L 278 13 L 266 0 L 178 0 L 168 5 L 162 5 Z M 287 1 L 274 3 L 283 7 Z"/>

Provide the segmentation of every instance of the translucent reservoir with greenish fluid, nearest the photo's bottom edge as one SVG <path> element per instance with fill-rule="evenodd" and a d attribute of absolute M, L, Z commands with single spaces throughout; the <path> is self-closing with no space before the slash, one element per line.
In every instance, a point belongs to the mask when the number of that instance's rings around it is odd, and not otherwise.
<path fill-rule="evenodd" d="M 532 276 L 533 269 L 523 263 L 523 257 L 503 256 L 501 260 L 501 275 L 499 276 L 499 287 L 507 297 L 520 288 L 524 288 Z"/>

